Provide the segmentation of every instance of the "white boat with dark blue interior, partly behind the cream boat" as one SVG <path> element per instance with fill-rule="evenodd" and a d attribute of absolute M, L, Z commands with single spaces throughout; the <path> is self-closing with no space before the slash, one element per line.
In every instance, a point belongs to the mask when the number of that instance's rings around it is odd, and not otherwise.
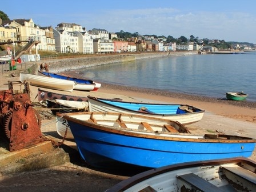
<path fill-rule="evenodd" d="M 75 88 L 76 90 L 83 90 L 83 91 L 97 91 L 99 87 L 101 87 L 101 83 L 96 83 L 92 80 L 89 79 L 81 79 L 81 78 L 75 78 L 75 77 L 70 77 L 67 75 L 60 75 L 56 73 L 49 73 L 46 71 L 38 71 L 39 74 L 46 75 L 48 77 L 53 77 L 57 79 L 66 79 L 70 81 L 75 81 L 76 85 Z"/>

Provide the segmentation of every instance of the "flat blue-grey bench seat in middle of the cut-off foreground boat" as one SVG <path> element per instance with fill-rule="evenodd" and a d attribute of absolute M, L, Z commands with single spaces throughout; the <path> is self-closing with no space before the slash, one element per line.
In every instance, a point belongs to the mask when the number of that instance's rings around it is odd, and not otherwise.
<path fill-rule="evenodd" d="M 184 174 L 184 175 L 177 175 L 179 179 L 182 179 L 191 187 L 194 187 L 197 190 L 205 191 L 205 192 L 222 192 L 223 190 L 219 189 L 219 187 L 211 184 L 210 182 L 198 177 L 194 173 Z M 224 192 L 224 191 L 223 191 Z"/>

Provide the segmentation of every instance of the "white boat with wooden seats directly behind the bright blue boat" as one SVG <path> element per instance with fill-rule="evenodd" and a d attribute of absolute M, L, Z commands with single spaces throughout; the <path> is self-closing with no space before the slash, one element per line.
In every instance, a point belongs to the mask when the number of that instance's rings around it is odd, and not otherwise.
<path fill-rule="evenodd" d="M 74 139 L 73 134 L 71 133 L 70 127 L 67 123 L 67 120 L 65 118 L 63 118 L 64 115 L 69 115 L 70 117 L 75 117 L 75 118 L 81 118 L 81 119 L 90 119 L 91 113 L 57 113 L 56 115 L 56 129 L 57 129 L 57 133 L 59 135 L 61 135 L 62 137 L 64 137 L 64 134 L 66 132 L 67 129 L 67 137 L 68 139 Z M 170 131 L 175 131 L 175 133 L 181 132 L 181 133 L 190 133 L 190 131 L 183 125 L 181 125 L 178 122 L 175 121 L 169 121 L 166 119 L 159 119 L 159 118 L 147 118 L 143 115 L 134 115 L 133 118 L 130 114 L 119 114 L 119 113 L 101 113 L 101 112 L 94 112 L 93 113 L 94 117 L 95 115 L 97 115 L 97 121 L 99 121 L 98 119 L 101 118 L 101 123 L 103 123 L 104 120 L 106 120 L 106 123 L 109 123 L 109 121 L 111 120 L 117 120 L 118 117 L 121 117 L 122 115 L 122 122 L 123 123 L 127 123 L 127 121 L 136 121 L 136 123 L 138 124 L 141 122 L 146 122 L 146 123 L 154 123 L 154 125 L 158 125 L 157 127 L 153 127 L 151 125 L 151 128 L 154 129 L 154 131 L 167 131 L 167 133 L 169 133 Z M 146 125 L 146 123 L 144 125 Z M 123 124 L 125 125 L 125 124 Z M 138 126 L 138 125 L 137 125 Z M 159 127 L 162 126 L 162 127 Z M 166 126 L 163 127 L 163 126 Z M 171 127 L 175 127 L 175 129 L 172 129 Z M 142 127 L 143 128 L 143 127 Z M 146 128 L 149 128 L 146 127 Z M 145 128 L 145 129 L 146 129 Z M 169 128 L 169 129 L 168 129 Z M 149 128 L 150 129 L 150 128 Z"/>

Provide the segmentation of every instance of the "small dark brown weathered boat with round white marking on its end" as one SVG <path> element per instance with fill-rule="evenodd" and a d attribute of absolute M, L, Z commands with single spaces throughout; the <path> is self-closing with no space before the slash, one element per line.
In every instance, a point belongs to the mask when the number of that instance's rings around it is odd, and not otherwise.
<path fill-rule="evenodd" d="M 37 91 L 37 97 L 38 101 L 43 101 L 45 99 L 62 99 L 62 100 L 67 100 L 67 101 L 88 101 L 87 97 L 79 97 L 77 95 L 66 95 L 66 94 L 59 94 L 59 93 L 54 93 L 51 91 L 46 91 L 38 88 Z"/>

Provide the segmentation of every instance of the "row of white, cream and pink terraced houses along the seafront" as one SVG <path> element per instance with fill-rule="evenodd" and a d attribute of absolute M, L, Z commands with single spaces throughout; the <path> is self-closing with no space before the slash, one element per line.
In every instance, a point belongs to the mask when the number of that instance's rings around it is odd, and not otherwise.
<path fill-rule="evenodd" d="M 176 45 L 175 42 L 163 43 L 163 39 L 145 37 L 131 38 L 129 41 L 117 40 L 117 34 L 105 29 L 86 30 L 75 23 L 59 23 L 55 29 L 52 26 L 41 27 L 33 19 L 0 19 L 1 42 L 37 41 L 33 47 L 38 50 L 57 51 L 59 53 L 121 53 L 134 51 L 176 51 L 199 50 L 195 43 Z M 14 43 L 15 44 L 15 43 Z"/>

